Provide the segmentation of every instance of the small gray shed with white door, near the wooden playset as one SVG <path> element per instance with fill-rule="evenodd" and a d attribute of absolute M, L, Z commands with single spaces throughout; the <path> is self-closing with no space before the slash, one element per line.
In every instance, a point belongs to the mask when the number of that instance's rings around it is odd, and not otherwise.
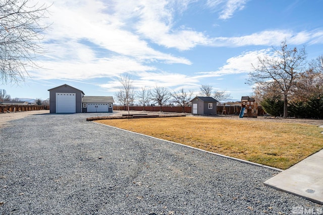
<path fill-rule="evenodd" d="M 191 100 L 192 114 L 211 115 L 217 114 L 218 101 L 212 97 L 196 96 Z"/>

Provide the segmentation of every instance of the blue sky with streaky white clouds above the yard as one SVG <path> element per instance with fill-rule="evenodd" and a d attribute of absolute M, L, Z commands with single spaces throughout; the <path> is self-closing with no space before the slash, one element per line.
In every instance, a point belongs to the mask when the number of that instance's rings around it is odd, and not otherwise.
<path fill-rule="evenodd" d="M 31 0 L 32 1 L 32 0 Z M 39 0 L 50 6 L 41 43 L 47 52 L 25 82 L 3 84 L 11 98 L 49 98 L 64 84 L 86 96 L 114 96 L 120 76 L 135 90 L 166 87 L 198 95 L 201 85 L 232 100 L 252 93 L 245 84 L 257 57 L 303 48 L 323 54 L 321 0 Z"/>

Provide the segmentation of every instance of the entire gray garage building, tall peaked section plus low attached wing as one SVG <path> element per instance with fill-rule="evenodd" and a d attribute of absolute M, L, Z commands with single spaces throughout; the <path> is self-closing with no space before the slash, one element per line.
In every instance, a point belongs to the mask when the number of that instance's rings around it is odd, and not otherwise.
<path fill-rule="evenodd" d="M 49 89 L 50 113 L 113 112 L 112 96 L 84 96 L 67 84 Z"/>

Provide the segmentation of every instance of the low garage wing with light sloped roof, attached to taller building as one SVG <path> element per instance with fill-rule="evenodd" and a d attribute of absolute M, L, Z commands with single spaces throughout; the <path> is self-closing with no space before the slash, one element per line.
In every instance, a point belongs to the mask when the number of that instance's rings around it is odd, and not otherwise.
<path fill-rule="evenodd" d="M 84 96 L 82 99 L 83 113 L 92 112 L 113 112 L 113 103 L 115 100 L 112 96 Z"/>

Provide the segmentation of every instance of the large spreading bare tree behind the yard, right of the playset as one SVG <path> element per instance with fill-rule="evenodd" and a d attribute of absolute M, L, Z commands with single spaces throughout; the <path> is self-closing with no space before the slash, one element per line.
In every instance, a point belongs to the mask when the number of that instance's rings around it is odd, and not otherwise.
<path fill-rule="evenodd" d="M 284 98 L 284 115 L 288 116 L 288 100 L 291 90 L 296 84 L 298 75 L 306 59 L 305 48 L 288 49 L 286 40 L 281 43 L 280 49 L 273 47 L 274 56 L 258 57 L 258 66 L 252 65 L 254 71 L 249 73 L 247 80 L 250 85 L 275 85 Z"/>

